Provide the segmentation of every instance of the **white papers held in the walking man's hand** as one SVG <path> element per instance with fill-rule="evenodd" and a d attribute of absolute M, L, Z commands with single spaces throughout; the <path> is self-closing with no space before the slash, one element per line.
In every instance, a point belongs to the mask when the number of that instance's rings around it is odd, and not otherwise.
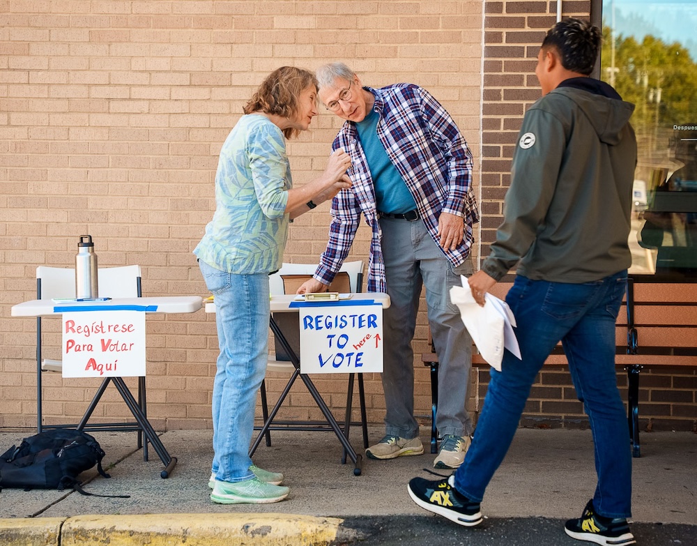
<path fill-rule="evenodd" d="M 503 349 L 521 358 L 513 331 L 516 319 L 508 304 L 491 294 L 484 294 L 484 307 L 480 307 L 472 296 L 467 278 L 461 278 L 462 286 L 450 289 L 450 301 L 460 310 L 460 317 L 482 358 L 500 372 Z"/>

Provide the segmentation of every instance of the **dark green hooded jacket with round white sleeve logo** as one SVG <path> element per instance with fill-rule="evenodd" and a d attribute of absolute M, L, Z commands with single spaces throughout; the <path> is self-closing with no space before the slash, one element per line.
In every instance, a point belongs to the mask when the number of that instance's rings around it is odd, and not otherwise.
<path fill-rule="evenodd" d="M 567 79 L 530 107 L 486 273 L 500 280 L 520 259 L 519 275 L 581 283 L 629 267 L 633 111 L 590 77 Z"/>

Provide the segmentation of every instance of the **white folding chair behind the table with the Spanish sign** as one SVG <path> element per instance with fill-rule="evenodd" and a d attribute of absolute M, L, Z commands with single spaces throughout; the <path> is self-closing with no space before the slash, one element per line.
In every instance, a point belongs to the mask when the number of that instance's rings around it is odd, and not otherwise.
<path fill-rule="evenodd" d="M 100 268 L 97 271 L 99 296 L 102 298 L 139 298 L 141 297 L 140 266 L 121 266 Z M 75 298 L 75 269 L 61 267 L 38 266 L 36 268 L 36 298 Z M 36 318 L 36 430 L 43 428 L 77 427 L 77 425 L 43 425 L 42 415 L 42 371 L 61 372 L 63 365 L 60 360 L 42 358 L 42 319 Z M 95 394 L 89 407 L 89 414 L 99 402 L 107 384 Z M 138 404 L 146 414 L 145 377 L 138 378 Z M 142 444 L 142 430 L 136 423 L 98 423 L 85 425 L 84 430 L 119 430 L 138 431 L 138 447 Z M 147 446 L 144 447 L 144 457 L 147 460 Z"/>

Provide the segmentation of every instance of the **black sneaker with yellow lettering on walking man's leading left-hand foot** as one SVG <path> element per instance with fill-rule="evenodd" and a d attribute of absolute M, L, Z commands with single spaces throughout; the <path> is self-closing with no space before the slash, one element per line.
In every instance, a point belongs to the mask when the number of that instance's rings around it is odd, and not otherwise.
<path fill-rule="evenodd" d="M 424 510 L 466 527 L 482 523 L 480 503 L 470 501 L 455 490 L 454 476 L 435 482 L 413 478 L 406 488 L 411 499 Z"/>

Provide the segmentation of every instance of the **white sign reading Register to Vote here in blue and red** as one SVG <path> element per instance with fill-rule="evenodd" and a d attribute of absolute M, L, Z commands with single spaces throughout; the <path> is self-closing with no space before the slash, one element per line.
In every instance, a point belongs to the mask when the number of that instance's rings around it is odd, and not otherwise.
<path fill-rule="evenodd" d="M 383 371 L 383 306 L 300 307 L 300 372 Z"/>

